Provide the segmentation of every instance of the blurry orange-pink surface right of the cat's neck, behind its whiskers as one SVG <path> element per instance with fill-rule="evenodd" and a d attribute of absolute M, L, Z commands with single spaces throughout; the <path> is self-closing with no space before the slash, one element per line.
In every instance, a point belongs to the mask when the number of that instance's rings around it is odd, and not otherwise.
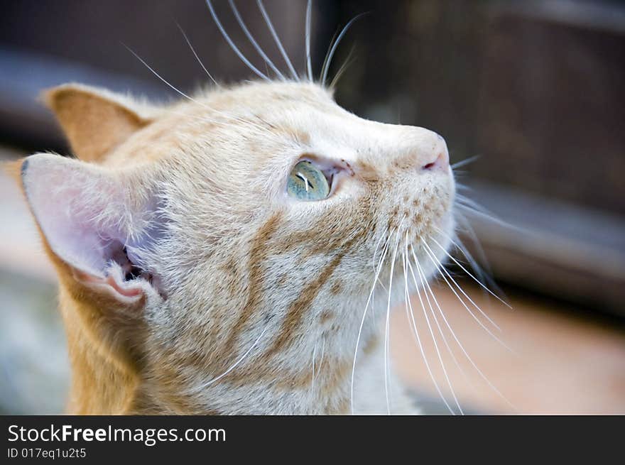
<path fill-rule="evenodd" d="M 484 326 L 501 339 L 507 350 L 479 326 L 449 289 L 434 292 L 458 340 L 475 365 L 509 403 L 499 396 L 464 356 L 440 314 L 443 333 L 453 350 L 455 365 L 428 307 L 428 317 L 452 388 L 461 407 L 471 412 L 522 414 L 625 414 L 625 331 L 592 322 L 531 295 L 513 295 L 510 310 L 464 281 L 462 287 L 501 328 Z M 430 368 L 447 402 L 450 386 L 437 359 L 435 346 L 417 297 L 412 299 L 415 320 Z M 437 311 L 437 310 L 436 310 Z M 394 366 L 418 392 L 438 398 L 403 308 L 396 309 L 391 329 Z M 381 367 L 381 370 L 383 368 Z M 441 410 L 445 411 L 445 410 Z"/>

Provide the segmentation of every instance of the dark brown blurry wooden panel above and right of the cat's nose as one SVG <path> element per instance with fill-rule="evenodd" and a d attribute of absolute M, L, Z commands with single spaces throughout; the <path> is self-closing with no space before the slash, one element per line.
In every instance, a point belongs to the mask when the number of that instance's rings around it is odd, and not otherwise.
<path fill-rule="evenodd" d="M 391 6 L 391 4 L 393 6 Z M 346 0 L 339 102 L 424 126 L 472 177 L 625 214 L 625 5 Z M 350 48 L 339 49 L 335 66 Z M 366 96 L 366 97 L 363 97 Z"/>

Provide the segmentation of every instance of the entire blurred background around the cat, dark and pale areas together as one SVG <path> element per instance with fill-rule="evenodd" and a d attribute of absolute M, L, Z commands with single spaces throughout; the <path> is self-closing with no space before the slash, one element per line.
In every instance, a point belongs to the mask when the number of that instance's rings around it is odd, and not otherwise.
<path fill-rule="evenodd" d="M 256 2 L 236 4 L 267 55 L 286 70 Z M 303 72 L 305 1 L 265 5 Z M 83 82 L 161 101 L 179 97 L 124 45 L 183 92 L 207 85 L 178 25 L 217 80 L 252 75 L 202 0 L 0 6 L 2 160 L 70 153 L 37 102 L 46 87 Z M 264 70 L 227 1 L 214 6 L 241 51 Z M 434 292 L 454 334 L 426 319 L 413 298 L 445 400 L 454 406 L 455 396 L 469 413 L 625 413 L 625 3 L 315 0 L 317 73 L 332 36 L 363 12 L 330 68 L 334 76 L 349 63 L 337 102 L 366 118 L 445 136 L 452 163 L 459 163 L 460 193 L 472 199 L 459 209 L 467 217 L 461 238 L 513 307 L 462 279 L 450 262 L 508 350 L 444 281 Z M 6 175 L 0 195 L 0 413 L 62 412 L 70 371 L 54 273 Z M 448 412 L 403 311 L 393 319 L 391 349 L 424 411 Z"/>

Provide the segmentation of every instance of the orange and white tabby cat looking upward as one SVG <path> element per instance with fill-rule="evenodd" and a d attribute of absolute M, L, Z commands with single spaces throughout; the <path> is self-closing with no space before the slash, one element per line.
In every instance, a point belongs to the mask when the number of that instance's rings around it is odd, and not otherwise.
<path fill-rule="evenodd" d="M 75 158 L 18 177 L 58 273 L 69 413 L 418 413 L 388 309 L 450 248 L 447 146 L 308 71 L 173 104 L 45 92 Z"/>

